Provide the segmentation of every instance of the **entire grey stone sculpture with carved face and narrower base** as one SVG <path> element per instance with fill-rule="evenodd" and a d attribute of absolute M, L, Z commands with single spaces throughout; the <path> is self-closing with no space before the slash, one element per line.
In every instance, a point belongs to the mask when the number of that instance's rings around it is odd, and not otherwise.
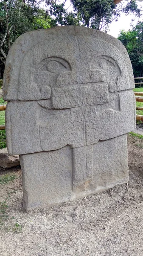
<path fill-rule="evenodd" d="M 103 32 L 59 26 L 15 41 L 3 99 L 7 148 L 20 155 L 25 209 L 128 182 L 133 88 L 126 49 Z"/>

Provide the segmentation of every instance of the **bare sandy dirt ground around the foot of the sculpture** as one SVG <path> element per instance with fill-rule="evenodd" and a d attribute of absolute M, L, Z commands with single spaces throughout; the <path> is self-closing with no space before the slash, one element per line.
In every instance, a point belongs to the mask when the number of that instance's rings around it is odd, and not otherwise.
<path fill-rule="evenodd" d="M 0 185 L 0 256 L 143 256 L 143 139 L 129 135 L 129 184 L 25 212 L 17 178 Z"/>

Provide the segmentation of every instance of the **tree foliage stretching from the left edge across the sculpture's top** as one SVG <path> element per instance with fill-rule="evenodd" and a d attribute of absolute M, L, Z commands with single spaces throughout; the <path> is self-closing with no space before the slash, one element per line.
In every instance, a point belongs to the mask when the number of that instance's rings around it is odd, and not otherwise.
<path fill-rule="evenodd" d="M 45 2 L 47 10 L 39 4 Z M 6 56 L 13 42 L 23 33 L 33 29 L 48 29 L 51 26 L 81 25 L 107 32 L 112 20 L 118 20 L 121 12 L 140 16 L 135 0 L 125 7 L 113 0 L 70 0 L 73 12 L 65 9 L 65 2 L 58 0 L 1 0 L 0 1 L 0 77 L 3 77 Z M 119 8 L 117 8 L 119 6 Z M 128 44 L 130 50 L 132 45 Z M 140 65 L 143 57 L 140 55 Z"/>

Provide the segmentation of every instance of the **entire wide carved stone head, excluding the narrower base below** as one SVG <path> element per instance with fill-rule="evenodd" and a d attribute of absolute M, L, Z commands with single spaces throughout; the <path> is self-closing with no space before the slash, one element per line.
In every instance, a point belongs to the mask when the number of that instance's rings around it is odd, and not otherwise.
<path fill-rule="evenodd" d="M 7 114 L 10 154 L 93 145 L 133 129 L 134 80 L 121 43 L 92 29 L 57 30 L 25 35 L 27 48 L 22 43 L 7 62 L 4 99 L 15 101 Z"/>

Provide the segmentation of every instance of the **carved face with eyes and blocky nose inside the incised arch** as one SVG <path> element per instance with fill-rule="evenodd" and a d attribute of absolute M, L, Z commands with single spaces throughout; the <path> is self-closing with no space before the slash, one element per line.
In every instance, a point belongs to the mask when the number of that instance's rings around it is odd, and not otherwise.
<path fill-rule="evenodd" d="M 109 102 L 109 92 L 129 87 L 123 58 L 114 46 L 111 51 L 107 42 L 78 35 L 54 39 L 36 44 L 25 54 L 19 100 L 50 99 L 52 108 L 97 105 Z"/>

